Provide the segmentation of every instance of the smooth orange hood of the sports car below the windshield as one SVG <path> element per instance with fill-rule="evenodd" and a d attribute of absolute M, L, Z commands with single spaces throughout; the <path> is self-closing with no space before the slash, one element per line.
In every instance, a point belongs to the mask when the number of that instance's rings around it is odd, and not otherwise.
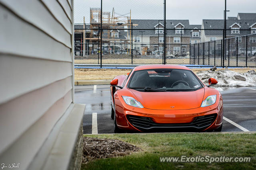
<path fill-rule="evenodd" d="M 201 106 L 204 98 L 204 88 L 193 92 L 131 91 L 143 107 L 156 110 L 194 109 Z"/>

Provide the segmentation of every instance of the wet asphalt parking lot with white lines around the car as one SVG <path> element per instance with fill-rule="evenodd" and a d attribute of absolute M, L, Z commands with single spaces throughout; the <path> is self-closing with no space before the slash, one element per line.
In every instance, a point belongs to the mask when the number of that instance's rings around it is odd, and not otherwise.
<path fill-rule="evenodd" d="M 256 131 L 256 87 L 225 88 L 221 93 L 224 103 L 222 131 Z M 109 85 L 76 86 L 75 102 L 86 104 L 84 134 L 114 133 Z"/>

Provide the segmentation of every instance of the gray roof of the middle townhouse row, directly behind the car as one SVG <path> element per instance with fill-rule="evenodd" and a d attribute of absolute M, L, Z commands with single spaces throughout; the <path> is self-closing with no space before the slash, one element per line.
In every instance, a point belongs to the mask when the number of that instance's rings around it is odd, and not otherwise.
<path fill-rule="evenodd" d="M 138 26 L 133 26 L 135 29 L 142 29 L 142 30 L 133 30 L 133 35 L 141 35 L 140 31 L 145 31 L 143 35 L 151 35 L 156 36 L 154 26 L 158 25 L 158 20 L 132 20 L 133 24 L 138 24 Z M 164 25 L 164 21 L 159 20 L 159 23 Z M 194 29 L 194 26 L 189 25 L 189 20 L 166 20 L 166 29 L 175 29 L 174 27 L 181 23 L 184 25 L 185 29 Z M 200 25 L 196 25 L 200 29 Z M 158 27 L 158 26 L 157 26 Z M 160 26 L 161 27 L 161 26 Z M 152 29 L 152 30 L 143 30 L 143 29 Z M 163 34 L 160 34 L 163 35 Z M 180 34 L 175 34 L 175 30 L 167 30 L 167 36 L 177 36 Z M 190 30 L 184 30 L 184 34 L 182 36 L 190 36 Z"/>

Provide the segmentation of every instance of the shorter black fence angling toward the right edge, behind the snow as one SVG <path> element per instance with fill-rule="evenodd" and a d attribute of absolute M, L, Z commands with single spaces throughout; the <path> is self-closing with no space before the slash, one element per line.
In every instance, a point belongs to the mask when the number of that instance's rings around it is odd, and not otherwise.
<path fill-rule="evenodd" d="M 240 30 L 240 34 L 243 31 L 250 30 Z M 256 67 L 255 58 L 256 34 L 226 38 L 224 42 L 223 39 L 212 39 L 190 45 L 190 64 Z"/>

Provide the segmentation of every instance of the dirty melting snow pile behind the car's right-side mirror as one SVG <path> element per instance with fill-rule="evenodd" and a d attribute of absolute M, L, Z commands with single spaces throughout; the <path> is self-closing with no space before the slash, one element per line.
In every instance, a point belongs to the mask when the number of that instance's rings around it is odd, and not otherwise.
<path fill-rule="evenodd" d="M 209 78 L 215 78 L 218 86 L 256 86 L 256 72 L 250 70 L 246 73 L 238 73 L 231 70 L 200 71 L 196 74 L 204 84 L 208 84 Z"/>

